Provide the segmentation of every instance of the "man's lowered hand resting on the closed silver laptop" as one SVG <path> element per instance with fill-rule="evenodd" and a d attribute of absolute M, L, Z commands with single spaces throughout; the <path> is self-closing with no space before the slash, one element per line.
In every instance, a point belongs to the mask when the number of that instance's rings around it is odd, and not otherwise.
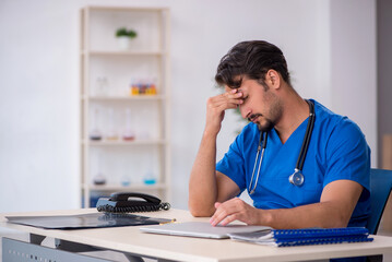
<path fill-rule="evenodd" d="M 260 212 L 262 210 L 257 210 L 238 198 L 230 199 L 224 203 L 216 202 L 215 209 L 216 212 L 210 219 L 213 226 L 219 223 L 222 226 L 226 226 L 234 221 L 240 221 L 248 225 L 261 224 Z"/>

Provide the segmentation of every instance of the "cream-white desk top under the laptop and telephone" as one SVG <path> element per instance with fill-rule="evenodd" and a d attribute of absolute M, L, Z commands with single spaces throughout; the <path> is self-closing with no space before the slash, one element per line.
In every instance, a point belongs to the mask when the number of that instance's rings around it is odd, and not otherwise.
<path fill-rule="evenodd" d="M 7 215 L 72 215 L 96 212 L 95 210 L 74 210 L 57 212 L 36 212 L 1 214 L 0 227 L 13 228 L 28 234 L 84 243 L 103 250 L 154 257 L 173 261 L 307 261 L 329 258 L 360 257 L 382 254 L 392 251 L 392 237 L 373 236 L 372 242 L 322 245 L 276 248 L 237 242 L 229 239 L 213 240 L 188 237 L 145 234 L 139 227 L 114 227 L 83 230 L 48 230 L 29 226 L 10 224 Z M 194 218 L 188 211 L 170 210 L 140 215 L 176 218 L 178 222 L 207 221 Z"/>

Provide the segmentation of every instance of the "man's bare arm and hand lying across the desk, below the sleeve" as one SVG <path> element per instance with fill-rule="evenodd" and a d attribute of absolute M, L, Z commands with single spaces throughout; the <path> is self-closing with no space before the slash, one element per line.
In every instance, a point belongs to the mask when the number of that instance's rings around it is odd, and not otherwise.
<path fill-rule="evenodd" d="M 248 225 L 263 225 L 275 229 L 305 227 L 346 227 L 364 190 L 352 180 L 336 180 L 325 186 L 320 203 L 292 209 L 261 210 L 248 205 L 238 198 L 215 203 L 210 223 L 225 226 L 233 221 Z"/>

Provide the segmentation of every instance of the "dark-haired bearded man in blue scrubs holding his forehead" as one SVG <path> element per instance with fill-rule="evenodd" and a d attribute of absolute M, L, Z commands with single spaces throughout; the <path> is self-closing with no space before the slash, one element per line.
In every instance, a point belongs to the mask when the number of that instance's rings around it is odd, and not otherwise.
<path fill-rule="evenodd" d="M 222 58 L 215 80 L 225 93 L 207 100 L 189 182 L 194 216 L 212 216 L 213 226 L 236 219 L 273 228 L 366 226 L 370 150 L 365 136 L 346 117 L 296 93 L 276 46 L 237 44 Z M 225 110 L 237 107 L 250 123 L 216 164 Z M 254 206 L 236 198 L 243 190 Z"/>

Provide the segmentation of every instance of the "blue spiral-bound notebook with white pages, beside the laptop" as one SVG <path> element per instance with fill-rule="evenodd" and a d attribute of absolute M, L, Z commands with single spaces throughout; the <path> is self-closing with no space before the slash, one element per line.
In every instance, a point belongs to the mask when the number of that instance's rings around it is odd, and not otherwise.
<path fill-rule="evenodd" d="M 369 237 L 369 230 L 365 227 L 269 229 L 230 234 L 229 237 L 234 240 L 275 247 L 368 242 L 373 240 L 373 238 Z"/>

